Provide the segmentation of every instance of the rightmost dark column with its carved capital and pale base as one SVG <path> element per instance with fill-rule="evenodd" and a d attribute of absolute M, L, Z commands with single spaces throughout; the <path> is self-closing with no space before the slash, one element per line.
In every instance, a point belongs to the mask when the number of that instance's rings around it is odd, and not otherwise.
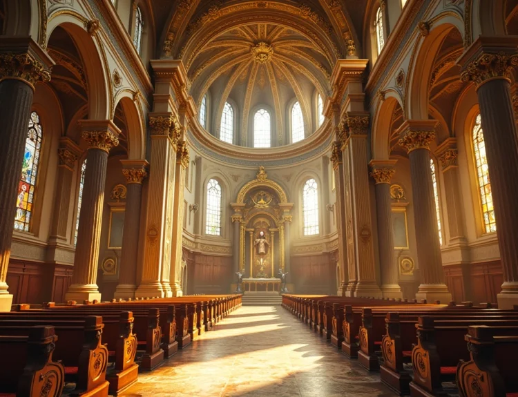
<path fill-rule="evenodd" d="M 463 66 L 463 81 L 477 84 L 503 268 L 498 306 L 512 309 L 518 304 L 518 139 L 510 75 L 518 65 L 517 40 L 479 37 L 459 64 Z"/>

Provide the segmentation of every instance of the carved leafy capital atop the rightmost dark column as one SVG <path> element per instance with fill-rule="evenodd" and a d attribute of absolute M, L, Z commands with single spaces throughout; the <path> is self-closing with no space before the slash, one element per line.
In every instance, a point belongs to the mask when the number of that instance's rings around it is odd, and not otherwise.
<path fill-rule="evenodd" d="M 481 54 L 461 73 L 462 81 L 474 81 L 480 86 L 488 79 L 501 78 L 510 80 L 512 69 L 518 65 L 517 54 Z"/>

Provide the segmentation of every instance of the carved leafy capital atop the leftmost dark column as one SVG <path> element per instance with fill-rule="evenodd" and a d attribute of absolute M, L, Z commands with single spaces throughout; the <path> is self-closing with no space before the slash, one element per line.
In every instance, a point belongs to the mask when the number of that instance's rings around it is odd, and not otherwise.
<path fill-rule="evenodd" d="M 50 81 L 50 72 L 28 53 L 6 53 L 0 54 L 0 80 L 2 79 L 21 79 L 34 89 L 38 81 Z"/>

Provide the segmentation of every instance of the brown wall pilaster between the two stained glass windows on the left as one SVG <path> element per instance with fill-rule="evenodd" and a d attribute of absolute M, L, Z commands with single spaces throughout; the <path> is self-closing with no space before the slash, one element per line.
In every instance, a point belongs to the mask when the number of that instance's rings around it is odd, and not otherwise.
<path fill-rule="evenodd" d="M 52 212 L 52 226 L 50 226 L 50 240 L 52 242 L 66 242 L 69 213 L 70 197 L 72 195 L 72 179 L 75 165 L 77 164 L 78 154 L 81 149 L 68 137 L 59 139 L 59 166 L 57 166 L 57 186 Z M 73 235 L 70 244 L 74 244 Z"/>

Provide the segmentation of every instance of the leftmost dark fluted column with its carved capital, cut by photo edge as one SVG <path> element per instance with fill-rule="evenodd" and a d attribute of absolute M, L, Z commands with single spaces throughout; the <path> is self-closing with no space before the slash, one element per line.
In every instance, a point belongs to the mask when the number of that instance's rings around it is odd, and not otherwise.
<path fill-rule="evenodd" d="M 1 43 L 9 52 L 0 54 L 0 311 L 9 311 L 7 269 L 30 106 L 35 84 L 50 80 L 45 66 L 50 62 L 41 59 L 43 51 L 30 39 L 15 46 Z"/>

